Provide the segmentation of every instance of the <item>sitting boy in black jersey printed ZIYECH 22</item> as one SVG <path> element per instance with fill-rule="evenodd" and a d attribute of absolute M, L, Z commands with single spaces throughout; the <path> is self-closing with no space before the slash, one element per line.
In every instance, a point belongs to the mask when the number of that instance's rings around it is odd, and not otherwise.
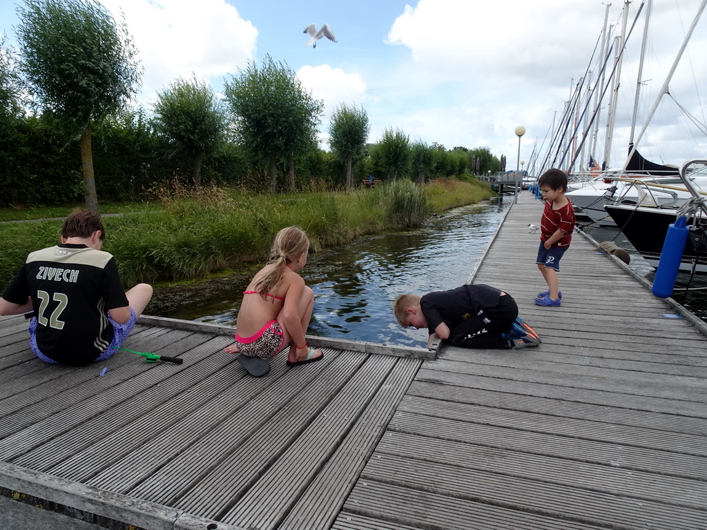
<path fill-rule="evenodd" d="M 123 292 L 103 240 L 100 216 L 74 211 L 62 225 L 62 243 L 32 252 L 0 298 L 0 315 L 33 312 L 30 347 L 47 363 L 109 358 L 152 298 L 147 283 Z"/>

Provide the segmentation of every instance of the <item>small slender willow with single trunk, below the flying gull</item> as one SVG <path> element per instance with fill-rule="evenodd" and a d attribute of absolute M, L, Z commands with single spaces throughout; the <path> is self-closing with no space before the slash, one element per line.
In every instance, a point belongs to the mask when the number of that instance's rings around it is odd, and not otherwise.
<path fill-rule="evenodd" d="M 363 158 L 369 132 L 368 114 L 363 107 L 342 103 L 334 110 L 329 123 L 329 146 L 346 164 L 346 189 L 351 188 L 351 168 L 354 161 Z"/>

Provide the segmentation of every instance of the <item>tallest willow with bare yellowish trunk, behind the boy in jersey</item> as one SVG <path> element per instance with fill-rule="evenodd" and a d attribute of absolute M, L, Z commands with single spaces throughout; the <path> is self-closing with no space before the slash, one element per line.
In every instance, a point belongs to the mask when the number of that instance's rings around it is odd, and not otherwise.
<path fill-rule="evenodd" d="M 132 38 L 97 0 L 24 0 L 17 12 L 20 69 L 37 106 L 78 137 L 86 208 L 98 212 L 91 130 L 136 95 Z"/>

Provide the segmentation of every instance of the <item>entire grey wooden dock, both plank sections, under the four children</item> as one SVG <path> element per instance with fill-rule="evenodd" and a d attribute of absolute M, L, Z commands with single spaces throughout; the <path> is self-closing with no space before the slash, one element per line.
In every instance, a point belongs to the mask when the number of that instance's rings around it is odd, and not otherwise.
<path fill-rule="evenodd" d="M 13 505 L 90 528 L 707 529 L 706 326 L 580 234 L 561 307 L 534 305 L 541 211 L 520 194 L 469 277 L 538 348 L 308 337 L 324 360 L 255 379 L 221 326 L 143 317 L 124 348 L 182 365 L 72 368 L 0 319 L 0 529 Z"/>

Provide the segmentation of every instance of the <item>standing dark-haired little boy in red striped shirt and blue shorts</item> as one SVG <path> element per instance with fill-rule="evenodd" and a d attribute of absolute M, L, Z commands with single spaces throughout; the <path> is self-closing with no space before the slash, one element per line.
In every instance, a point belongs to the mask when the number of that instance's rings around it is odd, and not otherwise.
<path fill-rule="evenodd" d="M 555 167 L 542 174 L 537 182 L 545 209 L 540 223 L 540 247 L 537 252 L 537 268 L 547 283 L 547 290 L 537 293 L 537 305 L 559 307 L 562 293 L 559 288 L 557 273 L 560 259 L 572 240 L 575 227 L 574 206 L 565 196 L 567 174 Z"/>

